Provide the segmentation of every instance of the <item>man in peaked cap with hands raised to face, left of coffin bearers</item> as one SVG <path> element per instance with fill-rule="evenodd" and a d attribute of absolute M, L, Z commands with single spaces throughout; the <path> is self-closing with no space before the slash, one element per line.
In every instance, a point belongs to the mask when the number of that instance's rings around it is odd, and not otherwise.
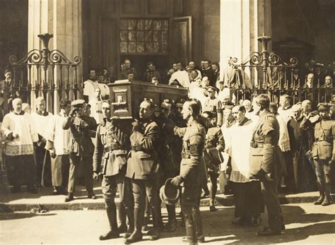
<path fill-rule="evenodd" d="M 94 145 L 90 138 L 95 137 L 95 131 L 91 129 L 90 121 L 86 121 L 83 116 L 83 107 L 85 100 L 74 100 L 71 102 L 71 112 L 69 117 L 64 121 L 63 129 L 70 129 L 70 172 L 69 172 L 69 186 L 68 196 L 65 201 L 74 200 L 74 191 L 78 177 L 79 165 L 83 165 L 86 190 L 88 191 L 88 198 L 95 199 L 93 193 L 93 150 Z"/>

